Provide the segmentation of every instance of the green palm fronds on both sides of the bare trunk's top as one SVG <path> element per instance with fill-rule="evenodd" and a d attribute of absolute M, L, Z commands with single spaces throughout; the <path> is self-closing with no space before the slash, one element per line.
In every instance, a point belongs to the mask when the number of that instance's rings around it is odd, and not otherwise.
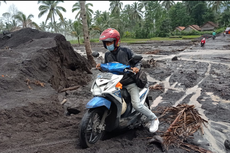
<path fill-rule="evenodd" d="M 85 4 L 87 19 L 90 19 L 92 17 L 92 14 L 93 14 L 93 10 L 89 8 L 90 6 L 93 7 L 93 4 L 92 3 L 86 3 Z M 75 16 L 75 19 L 77 19 L 80 17 L 80 14 L 81 14 L 80 1 L 76 2 L 73 5 L 72 12 L 75 12 L 75 11 L 78 11 L 76 16 Z"/>

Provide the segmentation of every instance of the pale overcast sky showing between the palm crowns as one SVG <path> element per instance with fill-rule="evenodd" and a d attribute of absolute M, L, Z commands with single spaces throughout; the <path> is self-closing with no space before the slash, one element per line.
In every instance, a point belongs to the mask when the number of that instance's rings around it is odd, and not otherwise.
<path fill-rule="evenodd" d="M 64 1 L 63 3 L 59 3 L 59 6 L 62 6 L 66 9 L 66 12 L 63 12 L 62 14 L 64 18 L 66 18 L 67 20 L 68 19 L 74 20 L 76 12 L 72 13 L 72 6 L 76 2 L 77 1 Z M 86 1 L 86 3 L 88 2 L 93 4 L 93 7 L 91 9 L 94 12 L 96 10 L 100 10 L 102 12 L 109 11 L 109 4 L 110 4 L 109 1 Z M 121 1 L 121 2 L 123 2 L 123 7 L 124 7 L 126 4 L 133 4 L 135 1 Z M 1 1 L 0 17 L 2 17 L 3 13 L 9 12 L 9 8 L 10 6 L 12 6 L 12 4 L 14 4 L 14 6 L 18 9 L 18 11 L 23 12 L 26 16 L 28 16 L 29 14 L 33 14 L 34 18 L 32 18 L 32 20 L 36 22 L 38 25 L 42 21 L 46 20 L 47 14 L 45 14 L 41 18 L 38 18 L 38 14 L 39 14 L 38 7 L 39 5 L 41 5 L 38 4 L 38 1 L 6 1 L 6 3 Z"/>

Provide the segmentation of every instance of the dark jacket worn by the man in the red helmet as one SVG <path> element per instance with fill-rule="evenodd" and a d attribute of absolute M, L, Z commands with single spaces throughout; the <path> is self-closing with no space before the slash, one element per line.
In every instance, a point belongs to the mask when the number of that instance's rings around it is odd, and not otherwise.
<path fill-rule="evenodd" d="M 140 61 L 130 61 L 134 52 L 126 47 L 118 47 L 116 51 L 108 51 L 105 53 L 105 63 L 119 62 L 125 65 L 130 65 L 131 67 L 141 68 Z"/>

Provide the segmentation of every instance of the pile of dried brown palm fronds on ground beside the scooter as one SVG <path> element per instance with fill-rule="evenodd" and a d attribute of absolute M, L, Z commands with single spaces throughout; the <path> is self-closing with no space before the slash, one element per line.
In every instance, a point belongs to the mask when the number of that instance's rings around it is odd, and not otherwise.
<path fill-rule="evenodd" d="M 177 107 L 167 107 L 159 117 L 170 119 L 168 130 L 161 135 L 167 150 L 169 146 L 174 146 L 187 151 L 190 148 L 200 153 L 211 153 L 211 151 L 184 142 L 184 140 L 198 130 L 204 134 L 202 124 L 206 126 L 205 123 L 208 123 L 208 121 L 200 117 L 200 114 L 194 108 L 194 105 L 187 104 L 179 104 Z"/>

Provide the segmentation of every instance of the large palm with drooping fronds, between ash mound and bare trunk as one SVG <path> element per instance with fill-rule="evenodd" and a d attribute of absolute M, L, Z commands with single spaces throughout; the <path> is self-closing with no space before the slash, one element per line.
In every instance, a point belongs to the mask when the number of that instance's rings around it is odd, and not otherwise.
<path fill-rule="evenodd" d="M 38 14 L 38 17 L 40 18 L 43 16 L 45 13 L 48 12 L 47 18 L 45 23 L 50 19 L 52 23 L 56 24 L 55 21 L 55 15 L 57 14 L 59 18 L 63 21 L 63 15 L 61 11 L 66 12 L 66 9 L 58 6 L 58 4 L 63 1 L 38 1 L 38 3 L 42 3 L 42 5 L 39 6 L 39 11 L 40 13 Z M 57 32 L 57 27 L 54 26 L 55 32 Z"/>

